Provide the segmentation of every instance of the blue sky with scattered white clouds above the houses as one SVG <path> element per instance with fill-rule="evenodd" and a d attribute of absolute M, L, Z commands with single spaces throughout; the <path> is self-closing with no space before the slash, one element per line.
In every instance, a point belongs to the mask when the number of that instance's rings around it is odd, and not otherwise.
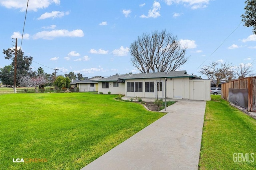
<path fill-rule="evenodd" d="M 1 51 L 13 47 L 12 38 L 20 47 L 26 6 L 27 0 L 0 0 Z M 49 74 L 52 68 L 88 77 L 139 73 L 130 44 L 166 29 L 187 47 L 189 60 L 179 70 L 206 78 L 198 70 L 213 61 L 254 61 L 256 35 L 240 24 L 244 6 L 244 0 L 30 0 L 22 51 L 33 57 L 33 70 Z M 0 67 L 10 63 L 0 53 Z"/>

